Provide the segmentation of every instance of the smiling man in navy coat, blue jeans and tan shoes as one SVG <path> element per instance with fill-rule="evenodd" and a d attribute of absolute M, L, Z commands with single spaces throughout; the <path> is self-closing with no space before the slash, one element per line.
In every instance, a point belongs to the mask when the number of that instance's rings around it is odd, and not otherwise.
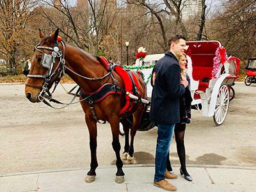
<path fill-rule="evenodd" d="M 180 79 L 178 58 L 185 51 L 186 38 L 175 35 L 169 42 L 167 51 L 153 68 L 153 86 L 150 119 L 157 123 L 157 146 L 155 159 L 154 185 L 167 191 L 177 188 L 166 179 L 177 179 L 177 175 L 166 171 L 166 157 L 172 140 L 173 129 L 180 122 L 179 97 L 188 86 L 186 78 Z"/>

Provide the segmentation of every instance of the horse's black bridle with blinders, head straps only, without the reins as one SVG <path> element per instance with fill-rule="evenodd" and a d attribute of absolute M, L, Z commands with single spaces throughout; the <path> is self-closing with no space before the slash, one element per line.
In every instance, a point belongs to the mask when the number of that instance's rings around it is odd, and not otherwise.
<path fill-rule="evenodd" d="M 47 39 L 47 38 L 46 38 Z M 30 86 L 32 88 L 38 88 L 41 92 L 38 95 L 38 99 L 40 101 L 44 101 L 45 99 L 51 99 L 52 93 L 56 89 L 56 86 L 60 82 L 61 77 L 65 74 L 65 43 L 61 40 L 60 43 L 62 44 L 63 51 L 60 50 L 58 43 L 54 44 L 54 47 L 45 47 L 40 46 L 39 44 L 35 46 L 35 51 L 42 52 L 42 60 L 40 65 L 42 67 L 47 68 L 47 72 L 44 75 L 39 74 L 28 74 L 27 77 L 31 78 L 42 78 L 45 79 L 44 84 L 42 86 L 36 86 L 33 84 L 26 84 L 26 86 Z M 51 51 L 51 54 L 48 54 L 41 49 Z M 58 58 L 58 65 L 55 70 L 52 71 L 54 63 Z M 54 78 L 55 77 L 55 78 Z M 57 78 L 56 78 L 57 77 Z M 49 92 L 49 84 L 55 83 L 54 89 L 52 93 Z"/>

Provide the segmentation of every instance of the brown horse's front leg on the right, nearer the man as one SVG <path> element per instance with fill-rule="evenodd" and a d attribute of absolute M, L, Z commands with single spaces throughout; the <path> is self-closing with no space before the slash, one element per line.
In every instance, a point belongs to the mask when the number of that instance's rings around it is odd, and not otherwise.
<path fill-rule="evenodd" d="M 120 157 L 120 141 L 119 141 L 119 117 L 112 117 L 111 120 L 109 120 L 109 124 L 111 126 L 111 131 L 112 131 L 112 136 L 113 136 L 113 141 L 112 141 L 112 147 L 113 150 L 115 150 L 116 154 L 116 182 L 117 183 L 122 183 L 124 182 L 124 172 L 122 170 L 123 168 L 123 162 Z"/>

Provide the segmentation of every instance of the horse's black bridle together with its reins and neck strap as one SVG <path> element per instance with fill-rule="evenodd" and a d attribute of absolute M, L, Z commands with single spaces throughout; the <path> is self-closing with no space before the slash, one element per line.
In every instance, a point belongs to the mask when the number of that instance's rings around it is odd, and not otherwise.
<path fill-rule="evenodd" d="M 47 36 L 44 40 L 47 40 L 47 38 L 49 38 L 49 36 Z M 44 102 L 44 104 L 47 104 L 47 106 L 50 106 L 51 108 L 55 108 L 53 106 L 51 106 L 51 104 L 49 104 L 49 102 L 46 101 L 49 100 L 50 102 L 56 102 L 58 104 L 65 104 L 62 103 L 56 99 L 52 99 L 52 93 L 54 92 L 54 90 L 56 89 L 56 86 L 58 85 L 58 83 L 60 83 L 60 79 L 63 75 L 65 75 L 65 70 L 69 70 L 70 72 L 76 74 L 79 77 L 82 77 L 84 79 L 87 79 L 89 81 L 97 81 L 97 80 L 102 80 L 106 77 L 108 77 L 108 79 L 111 77 L 113 79 L 113 81 L 115 82 L 115 85 L 118 84 L 118 82 L 116 81 L 115 77 L 113 77 L 113 65 L 110 65 L 110 71 L 105 74 L 102 77 L 85 77 L 85 76 L 81 76 L 80 74 L 77 74 L 76 72 L 74 72 L 71 68 L 68 68 L 67 65 L 65 65 L 65 42 L 63 42 L 63 40 L 60 40 L 60 43 L 63 47 L 63 51 L 60 50 L 60 47 L 58 46 L 58 42 L 56 42 L 54 44 L 54 47 L 46 47 L 46 46 L 40 46 L 40 43 L 37 44 L 35 46 L 35 51 L 39 51 L 42 52 L 42 60 L 40 61 L 40 65 L 44 68 L 47 68 L 47 72 L 44 75 L 40 75 L 40 74 L 28 74 L 27 77 L 30 78 L 41 78 L 41 79 L 45 79 L 44 84 L 42 86 L 37 86 L 35 84 L 28 84 L 26 83 L 26 86 L 32 87 L 32 88 L 38 88 L 41 90 L 41 92 L 38 94 L 38 100 Z M 48 54 L 44 51 L 42 51 L 42 49 L 44 50 L 48 50 L 51 51 L 51 54 Z M 34 52 L 35 52 L 34 51 Z M 55 70 L 52 71 L 53 66 L 56 62 L 56 59 L 58 59 L 58 65 L 55 68 Z M 108 80 L 107 80 L 108 81 Z M 52 92 L 50 93 L 49 91 L 49 84 L 53 84 L 54 88 L 52 90 Z M 68 103 L 65 104 L 66 106 L 64 106 L 63 108 L 67 107 L 70 104 L 75 104 L 77 102 L 73 102 L 74 99 L 79 96 L 79 91 L 80 88 L 77 89 L 76 93 L 71 93 L 72 91 L 70 90 L 70 94 L 74 95 L 73 99 Z M 91 97 L 91 96 L 89 96 Z M 80 100 L 79 102 L 86 100 L 88 98 L 84 98 L 82 100 Z M 61 108 L 56 108 L 56 109 L 61 109 Z"/>

